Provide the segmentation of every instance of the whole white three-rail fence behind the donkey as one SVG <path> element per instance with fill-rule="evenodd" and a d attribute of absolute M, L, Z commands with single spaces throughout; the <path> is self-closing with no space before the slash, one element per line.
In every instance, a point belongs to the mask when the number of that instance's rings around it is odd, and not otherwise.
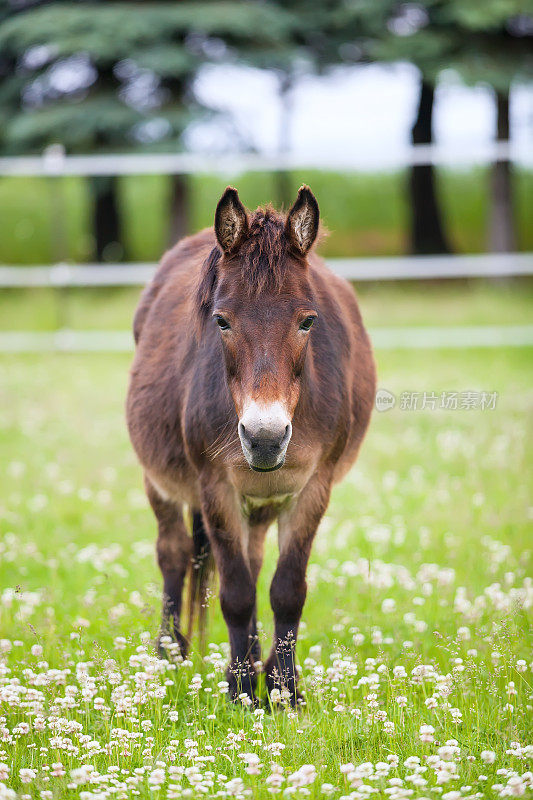
<path fill-rule="evenodd" d="M 531 144 L 489 142 L 461 148 L 416 145 L 396 153 L 335 154 L 312 161 L 296 155 L 257 154 L 205 156 L 176 154 L 103 154 L 66 156 L 52 146 L 42 156 L 0 158 L 0 175 L 62 177 L 67 175 L 141 175 L 211 173 L 235 176 L 247 171 L 327 169 L 358 171 L 421 164 L 467 165 L 495 161 L 533 163 Z M 355 281 L 432 278 L 506 277 L 533 274 L 533 253 L 394 258 L 332 258 L 330 268 Z M 149 281 L 155 264 L 55 264 L 0 266 L 0 289 L 30 287 L 136 286 Z M 378 348 L 493 347 L 533 345 L 533 326 L 445 328 L 379 328 L 373 332 Z M 0 332 L 0 351 L 124 351 L 132 339 L 127 331 Z"/>

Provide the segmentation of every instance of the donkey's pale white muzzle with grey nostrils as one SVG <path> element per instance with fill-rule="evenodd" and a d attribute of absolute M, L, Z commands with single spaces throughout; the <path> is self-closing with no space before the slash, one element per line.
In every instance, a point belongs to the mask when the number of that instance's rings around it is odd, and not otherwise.
<path fill-rule="evenodd" d="M 283 466 L 291 434 L 292 425 L 285 416 L 265 419 L 244 414 L 239 422 L 244 456 L 257 472 L 271 472 Z"/>

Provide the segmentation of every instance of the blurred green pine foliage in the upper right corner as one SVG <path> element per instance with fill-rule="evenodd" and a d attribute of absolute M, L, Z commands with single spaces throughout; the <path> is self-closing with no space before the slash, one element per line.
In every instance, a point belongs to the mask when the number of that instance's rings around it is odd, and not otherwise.
<path fill-rule="evenodd" d="M 436 81 L 445 68 L 505 90 L 533 75 L 531 0 L 288 0 L 295 42 L 323 70 L 340 63 L 409 61 Z"/>

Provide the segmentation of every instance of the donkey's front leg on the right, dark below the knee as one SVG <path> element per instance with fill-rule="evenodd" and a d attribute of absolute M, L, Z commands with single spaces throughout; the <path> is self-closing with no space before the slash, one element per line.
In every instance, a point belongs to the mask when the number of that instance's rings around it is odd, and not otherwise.
<path fill-rule="evenodd" d="M 268 691 L 287 689 L 293 705 L 298 700 L 295 651 L 307 594 L 307 562 L 329 493 L 330 482 L 315 476 L 296 505 L 279 519 L 280 557 L 270 586 L 274 642 L 264 670 Z"/>

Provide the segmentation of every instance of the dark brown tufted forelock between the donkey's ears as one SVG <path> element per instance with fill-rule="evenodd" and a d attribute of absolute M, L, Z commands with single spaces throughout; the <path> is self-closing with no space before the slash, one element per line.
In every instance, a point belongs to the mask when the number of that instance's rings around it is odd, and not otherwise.
<path fill-rule="evenodd" d="M 258 208 L 249 219 L 248 236 L 238 258 L 250 293 L 279 292 L 287 275 L 285 219 L 271 206 Z"/>

